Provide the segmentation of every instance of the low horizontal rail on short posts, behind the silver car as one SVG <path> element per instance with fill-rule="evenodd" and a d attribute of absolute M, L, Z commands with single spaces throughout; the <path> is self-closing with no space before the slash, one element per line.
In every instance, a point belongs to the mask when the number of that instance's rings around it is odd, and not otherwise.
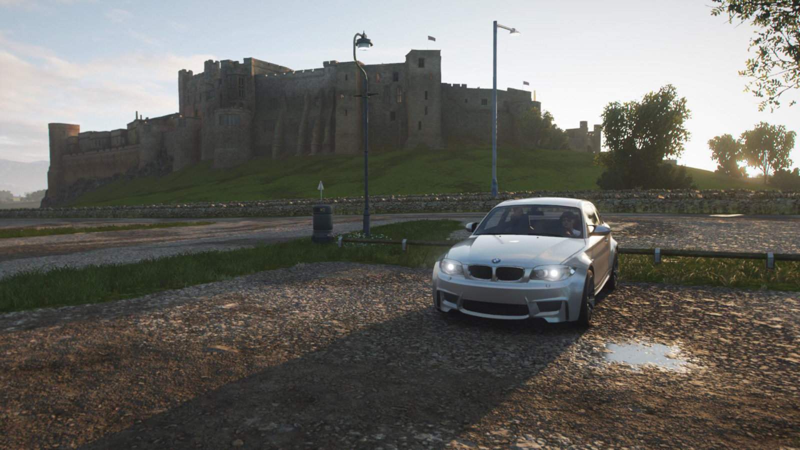
<path fill-rule="evenodd" d="M 403 251 L 409 245 L 423 245 L 431 247 L 450 247 L 460 241 L 417 241 L 417 240 L 393 240 L 393 239 L 358 239 L 338 237 L 337 244 L 342 247 L 342 243 L 386 243 L 401 244 Z M 617 247 L 620 255 L 653 255 L 653 263 L 661 263 L 662 256 L 683 256 L 690 258 L 728 258 L 728 259 L 765 259 L 766 268 L 774 269 L 775 261 L 800 261 L 800 255 L 791 253 L 754 253 L 746 251 L 706 251 L 706 250 L 681 250 L 674 248 L 624 248 Z"/>

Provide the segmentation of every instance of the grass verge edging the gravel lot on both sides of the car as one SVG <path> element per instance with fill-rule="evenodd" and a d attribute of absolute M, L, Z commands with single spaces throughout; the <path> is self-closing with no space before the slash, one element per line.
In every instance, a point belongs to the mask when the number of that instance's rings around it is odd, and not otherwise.
<path fill-rule="evenodd" d="M 373 227 L 382 239 L 446 240 L 461 225 L 455 220 L 418 220 Z M 350 235 L 358 235 L 357 232 Z M 433 267 L 446 247 L 345 243 L 316 244 L 296 239 L 233 251 L 176 255 L 139 263 L 59 268 L 25 272 L 2 279 L 0 311 L 57 307 L 126 299 L 266 271 L 296 263 L 351 261 Z M 664 258 L 655 266 L 646 255 L 620 255 L 623 281 L 676 283 L 800 291 L 800 263 L 779 261 L 774 271 L 763 262 L 742 259 Z"/>

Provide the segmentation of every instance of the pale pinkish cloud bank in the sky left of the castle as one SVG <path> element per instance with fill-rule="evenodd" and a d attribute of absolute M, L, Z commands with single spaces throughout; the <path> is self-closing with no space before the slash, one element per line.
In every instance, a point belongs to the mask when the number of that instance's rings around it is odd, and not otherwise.
<path fill-rule="evenodd" d="M 49 159 L 47 123 L 113 130 L 126 127 L 135 110 L 174 113 L 178 70 L 200 72 L 211 58 L 139 52 L 78 63 L 0 32 L 0 159 Z"/>

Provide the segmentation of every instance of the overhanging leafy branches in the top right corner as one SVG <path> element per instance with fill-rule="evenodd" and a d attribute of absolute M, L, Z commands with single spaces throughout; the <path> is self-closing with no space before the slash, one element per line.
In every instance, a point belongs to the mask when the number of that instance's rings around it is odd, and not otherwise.
<path fill-rule="evenodd" d="M 728 22 L 750 21 L 759 30 L 750 38 L 755 57 L 745 62 L 740 75 L 750 77 L 747 90 L 764 98 L 758 110 L 781 105 L 779 97 L 800 89 L 800 2 L 798 0 L 712 0 L 714 16 L 727 14 Z M 796 103 L 792 100 L 789 106 Z"/>

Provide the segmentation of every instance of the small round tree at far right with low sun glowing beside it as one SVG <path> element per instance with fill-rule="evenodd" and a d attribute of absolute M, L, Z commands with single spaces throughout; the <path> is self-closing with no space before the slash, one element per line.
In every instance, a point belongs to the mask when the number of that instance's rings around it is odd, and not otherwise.
<path fill-rule="evenodd" d="M 786 169 L 792 164 L 789 153 L 794 148 L 794 131 L 786 131 L 786 127 L 770 125 L 762 122 L 752 130 L 742 133 L 742 153 L 747 165 L 761 169 L 764 173 L 764 184 L 770 175 L 770 169 Z"/>

